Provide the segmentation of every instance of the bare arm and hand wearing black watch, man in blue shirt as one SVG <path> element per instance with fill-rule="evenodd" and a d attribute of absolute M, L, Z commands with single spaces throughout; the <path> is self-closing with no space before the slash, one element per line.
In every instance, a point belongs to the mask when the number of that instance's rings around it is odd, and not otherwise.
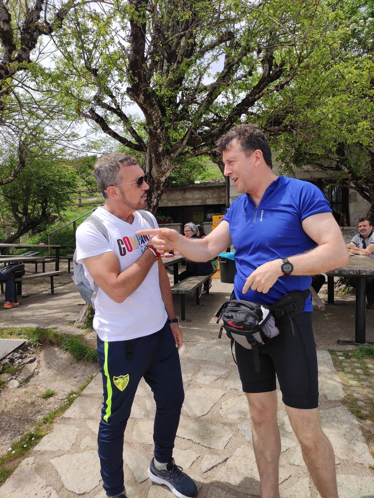
<path fill-rule="evenodd" d="M 316 275 L 348 263 L 349 255 L 342 232 L 331 213 L 309 216 L 302 222 L 302 227 L 318 246 L 304 254 L 288 257 L 293 264 L 293 275 Z M 277 278 L 283 275 L 281 263 L 281 259 L 275 259 L 256 268 L 247 278 L 243 293 L 249 287 L 258 292 L 268 292 Z"/>

